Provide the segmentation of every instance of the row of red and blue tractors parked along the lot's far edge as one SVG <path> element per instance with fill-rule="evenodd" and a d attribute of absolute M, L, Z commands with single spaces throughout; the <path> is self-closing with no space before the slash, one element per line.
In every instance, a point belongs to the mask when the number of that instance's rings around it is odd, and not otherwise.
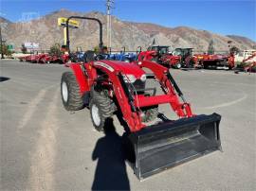
<path fill-rule="evenodd" d="M 66 47 L 62 47 L 62 55 L 52 55 L 48 53 L 30 54 L 20 57 L 20 61 L 28 61 L 32 63 L 67 63 L 85 61 L 86 51 L 77 48 L 77 51 L 67 51 Z M 141 46 L 137 47 L 137 51 L 127 52 L 125 47 L 121 51 L 113 52 L 111 47 L 103 47 L 101 59 L 109 61 L 154 61 L 168 68 L 204 68 L 204 69 L 240 69 L 252 72 L 256 66 L 256 50 L 247 50 L 239 53 L 227 54 L 193 54 L 192 48 L 175 48 L 171 50 L 167 45 L 151 45 L 146 51 L 141 50 Z M 241 62 L 237 68 L 235 63 Z"/>

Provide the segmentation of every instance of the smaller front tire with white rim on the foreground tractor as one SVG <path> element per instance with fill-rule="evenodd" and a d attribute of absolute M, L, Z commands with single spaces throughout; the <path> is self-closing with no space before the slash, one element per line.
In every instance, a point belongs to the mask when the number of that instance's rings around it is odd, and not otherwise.
<path fill-rule="evenodd" d="M 104 130 L 106 119 L 116 111 L 112 99 L 106 96 L 103 91 L 97 92 L 95 90 L 91 92 L 89 108 L 93 126 L 98 131 Z"/>

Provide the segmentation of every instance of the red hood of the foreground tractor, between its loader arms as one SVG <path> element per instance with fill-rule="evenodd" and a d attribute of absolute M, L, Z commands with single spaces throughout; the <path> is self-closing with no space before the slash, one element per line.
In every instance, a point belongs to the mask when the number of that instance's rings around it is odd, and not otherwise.
<path fill-rule="evenodd" d="M 142 70 L 136 63 L 125 61 L 94 61 L 94 65 L 103 67 L 110 72 L 120 71 L 125 75 L 133 75 L 136 78 L 141 78 L 141 76 L 145 74 L 144 70 Z"/>

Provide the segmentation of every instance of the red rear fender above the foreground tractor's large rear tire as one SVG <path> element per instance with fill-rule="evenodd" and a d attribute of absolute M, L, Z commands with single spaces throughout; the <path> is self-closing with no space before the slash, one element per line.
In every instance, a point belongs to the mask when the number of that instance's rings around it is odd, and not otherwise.
<path fill-rule="evenodd" d="M 78 85 L 80 87 L 81 95 L 83 96 L 85 92 L 90 91 L 89 85 L 87 83 L 88 78 L 84 75 L 82 71 L 82 66 L 79 63 L 71 63 L 69 67 L 74 72 L 75 77 L 77 78 Z"/>

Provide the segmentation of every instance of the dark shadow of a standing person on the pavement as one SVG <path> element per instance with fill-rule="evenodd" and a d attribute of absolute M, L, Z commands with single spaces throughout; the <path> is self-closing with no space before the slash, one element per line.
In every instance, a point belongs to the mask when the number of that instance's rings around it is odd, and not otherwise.
<path fill-rule="evenodd" d="M 92 160 L 98 160 L 92 190 L 130 190 L 122 137 L 116 132 L 113 119 L 105 127 L 105 136 L 98 140 L 92 154 Z"/>

